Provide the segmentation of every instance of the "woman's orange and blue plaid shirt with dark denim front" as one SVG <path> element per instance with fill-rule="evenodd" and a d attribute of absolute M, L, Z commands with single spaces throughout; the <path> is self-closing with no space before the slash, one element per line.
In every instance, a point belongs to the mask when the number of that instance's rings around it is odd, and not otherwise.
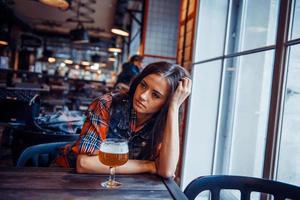
<path fill-rule="evenodd" d="M 59 166 L 75 167 L 78 154 L 97 155 L 100 149 L 100 143 L 106 137 L 122 137 L 128 139 L 130 158 L 147 159 L 150 157 L 150 149 L 147 150 L 147 148 L 149 148 L 151 143 L 150 140 L 153 139 L 149 135 L 149 130 L 152 127 L 151 123 L 148 123 L 135 133 L 136 113 L 134 110 L 129 110 L 128 106 L 124 108 L 124 105 L 120 103 L 119 111 L 115 113 L 122 113 L 122 116 L 112 115 L 112 118 L 120 118 L 120 120 L 117 121 L 117 125 L 112 127 L 112 123 L 110 123 L 112 98 L 111 93 L 105 94 L 90 104 L 86 112 L 87 118 L 83 124 L 79 139 L 75 144 L 69 144 L 62 149 L 60 152 L 61 155 L 56 159 L 56 163 Z M 120 112 L 120 109 L 122 109 L 122 112 Z M 126 133 L 119 133 L 116 128 L 119 128 L 118 130 L 121 130 L 121 132 L 125 130 Z"/>

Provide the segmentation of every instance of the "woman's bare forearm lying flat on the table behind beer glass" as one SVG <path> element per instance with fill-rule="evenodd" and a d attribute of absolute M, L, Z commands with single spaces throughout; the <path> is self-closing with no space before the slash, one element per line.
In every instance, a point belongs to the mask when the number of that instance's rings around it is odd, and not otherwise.
<path fill-rule="evenodd" d="M 103 165 L 98 156 L 79 154 L 77 157 L 76 171 L 78 173 L 108 174 L 109 167 Z M 155 163 L 148 160 L 128 160 L 122 166 L 116 168 L 118 174 L 156 173 Z"/>

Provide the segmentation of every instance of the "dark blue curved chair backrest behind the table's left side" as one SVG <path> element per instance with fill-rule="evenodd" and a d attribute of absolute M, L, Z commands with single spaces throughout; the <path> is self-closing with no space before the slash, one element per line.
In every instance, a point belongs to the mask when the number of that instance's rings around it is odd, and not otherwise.
<path fill-rule="evenodd" d="M 27 147 L 21 153 L 16 167 L 24 167 L 29 160 L 32 160 L 32 165 L 34 167 L 38 167 L 40 163 L 39 158 L 41 157 L 41 155 L 46 154 L 46 159 L 49 161 L 50 157 L 54 158 L 58 150 L 69 143 L 70 142 L 52 142 Z"/>

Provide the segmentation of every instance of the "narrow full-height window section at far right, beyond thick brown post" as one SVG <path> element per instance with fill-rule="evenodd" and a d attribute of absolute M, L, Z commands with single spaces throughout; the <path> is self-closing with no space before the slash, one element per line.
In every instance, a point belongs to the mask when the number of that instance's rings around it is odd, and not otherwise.
<path fill-rule="evenodd" d="M 300 1 L 292 1 L 277 180 L 300 185 Z M 293 40 L 293 42 L 291 41 Z M 295 42 L 296 41 L 296 42 Z"/>

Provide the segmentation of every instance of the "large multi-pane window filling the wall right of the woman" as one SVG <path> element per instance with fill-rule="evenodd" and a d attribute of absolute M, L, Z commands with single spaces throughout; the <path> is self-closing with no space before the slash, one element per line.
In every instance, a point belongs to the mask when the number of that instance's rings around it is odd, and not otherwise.
<path fill-rule="evenodd" d="M 182 188 L 209 174 L 300 184 L 300 0 L 289 2 L 199 2 Z"/>

